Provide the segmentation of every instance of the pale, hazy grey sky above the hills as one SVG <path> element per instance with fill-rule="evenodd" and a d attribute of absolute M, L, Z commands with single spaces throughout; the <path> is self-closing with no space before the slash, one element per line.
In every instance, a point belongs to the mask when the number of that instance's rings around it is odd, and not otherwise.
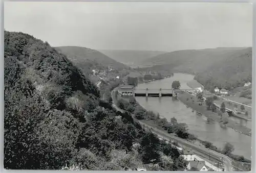
<path fill-rule="evenodd" d="M 177 51 L 252 46 L 252 5 L 5 2 L 4 28 L 52 46 Z"/>

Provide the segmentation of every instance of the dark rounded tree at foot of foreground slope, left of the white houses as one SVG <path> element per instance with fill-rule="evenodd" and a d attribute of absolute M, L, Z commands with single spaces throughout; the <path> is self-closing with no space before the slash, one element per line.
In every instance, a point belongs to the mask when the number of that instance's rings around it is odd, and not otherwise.
<path fill-rule="evenodd" d="M 140 142 L 140 155 L 143 163 L 157 163 L 160 160 L 160 140 L 152 132 L 146 133 Z M 148 152 L 150 151 L 150 152 Z"/>

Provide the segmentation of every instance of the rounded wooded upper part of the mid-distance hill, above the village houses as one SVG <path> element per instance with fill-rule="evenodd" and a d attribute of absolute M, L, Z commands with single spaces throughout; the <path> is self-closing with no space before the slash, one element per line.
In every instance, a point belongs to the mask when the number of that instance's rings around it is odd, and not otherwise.
<path fill-rule="evenodd" d="M 104 66 L 113 67 L 117 70 L 128 69 L 129 67 L 113 60 L 112 58 L 96 51 L 91 48 L 78 47 L 78 46 L 61 46 L 55 47 L 55 49 L 62 54 L 65 54 L 72 62 L 82 63 L 86 60 L 95 61 Z"/>

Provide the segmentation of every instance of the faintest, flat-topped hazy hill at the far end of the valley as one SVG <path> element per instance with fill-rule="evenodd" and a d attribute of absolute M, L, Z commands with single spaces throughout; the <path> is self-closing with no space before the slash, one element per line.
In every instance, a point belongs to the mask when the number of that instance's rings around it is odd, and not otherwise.
<path fill-rule="evenodd" d="M 111 57 L 112 59 L 137 67 L 143 65 L 141 62 L 149 58 L 164 54 L 162 51 L 136 51 L 136 50 L 98 50 L 99 52 Z"/>

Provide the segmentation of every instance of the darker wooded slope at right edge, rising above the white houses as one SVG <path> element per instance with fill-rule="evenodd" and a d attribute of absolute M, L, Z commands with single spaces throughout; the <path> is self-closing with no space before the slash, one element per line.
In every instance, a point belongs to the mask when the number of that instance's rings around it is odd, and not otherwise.
<path fill-rule="evenodd" d="M 213 87 L 232 90 L 252 80 L 252 50 L 245 48 L 237 54 L 213 63 L 197 73 L 195 79 L 207 89 Z"/>

